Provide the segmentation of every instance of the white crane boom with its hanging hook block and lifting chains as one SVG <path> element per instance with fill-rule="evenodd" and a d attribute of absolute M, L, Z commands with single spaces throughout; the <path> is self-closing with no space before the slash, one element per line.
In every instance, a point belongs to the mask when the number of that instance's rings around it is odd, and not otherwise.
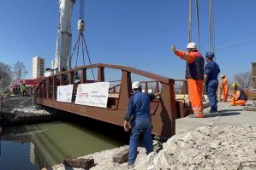
<path fill-rule="evenodd" d="M 59 21 L 57 29 L 57 44 L 55 59 L 51 62 L 51 74 L 57 72 L 63 72 L 71 68 L 72 57 L 76 50 L 76 66 L 78 61 L 78 55 L 80 50 L 80 44 L 82 47 L 82 57 L 85 65 L 84 47 L 86 48 L 86 55 L 90 64 L 92 64 L 89 52 L 87 49 L 86 41 L 84 38 L 85 21 L 84 21 L 84 0 L 80 0 L 80 19 L 77 22 L 77 29 L 79 32 L 78 39 L 74 45 L 74 50 L 71 54 L 72 33 L 71 33 L 71 19 L 72 10 L 75 0 L 59 0 Z M 91 69 L 92 70 L 92 69 Z M 52 72 L 53 71 L 53 72 Z M 94 73 L 92 71 L 93 79 Z"/>

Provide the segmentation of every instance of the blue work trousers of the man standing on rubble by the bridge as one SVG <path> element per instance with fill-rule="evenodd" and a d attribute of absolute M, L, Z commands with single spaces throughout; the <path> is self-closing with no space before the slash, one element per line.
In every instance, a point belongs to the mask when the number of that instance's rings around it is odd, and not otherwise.
<path fill-rule="evenodd" d="M 146 148 L 146 154 L 153 151 L 152 145 L 152 124 L 149 118 L 136 118 L 134 122 L 131 123 L 132 132 L 130 136 L 129 143 L 129 155 L 128 163 L 134 164 L 137 157 L 137 148 L 139 145 L 140 132 L 143 132 L 144 145 Z"/>

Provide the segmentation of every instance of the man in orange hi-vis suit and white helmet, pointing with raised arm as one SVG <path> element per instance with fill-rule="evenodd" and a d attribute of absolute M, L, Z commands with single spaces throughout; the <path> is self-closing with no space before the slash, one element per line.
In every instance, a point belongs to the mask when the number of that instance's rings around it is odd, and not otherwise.
<path fill-rule="evenodd" d="M 196 49 L 196 44 L 191 42 L 187 45 L 188 52 L 176 50 L 173 45 L 170 47 L 176 56 L 187 62 L 186 79 L 188 79 L 188 97 L 193 109 L 193 117 L 202 118 L 203 114 L 203 84 L 205 59 Z"/>

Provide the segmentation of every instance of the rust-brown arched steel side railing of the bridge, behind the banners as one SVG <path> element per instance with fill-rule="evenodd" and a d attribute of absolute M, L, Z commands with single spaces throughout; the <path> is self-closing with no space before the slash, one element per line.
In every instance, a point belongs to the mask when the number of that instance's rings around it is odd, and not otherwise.
<path fill-rule="evenodd" d="M 98 69 L 95 81 L 87 79 L 87 70 L 91 68 Z M 77 85 L 104 82 L 104 68 L 116 69 L 122 73 L 121 80 L 115 81 L 117 85 L 110 86 L 107 108 L 74 104 Z M 76 72 L 80 72 L 80 79 L 74 79 L 74 73 Z M 133 94 L 131 74 L 138 74 L 147 79 L 152 79 L 152 81 L 141 81 L 145 92 L 149 92 L 148 84 L 154 84 L 154 90 L 151 92 L 161 91 L 161 96 L 151 103 L 152 132 L 158 136 L 170 138 L 175 134 L 175 120 L 177 118 L 174 79 L 148 73 L 133 67 L 98 63 L 84 67 L 75 67 L 74 69 L 57 73 L 43 79 L 37 86 L 35 90 L 36 103 L 122 126 L 129 97 Z M 72 103 L 57 102 L 58 85 L 74 85 Z"/>

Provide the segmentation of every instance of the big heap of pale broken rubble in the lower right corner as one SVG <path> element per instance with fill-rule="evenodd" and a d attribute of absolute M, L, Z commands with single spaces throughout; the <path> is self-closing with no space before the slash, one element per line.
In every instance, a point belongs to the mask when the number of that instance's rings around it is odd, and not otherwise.
<path fill-rule="evenodd" d="M 153 157 L 153 169 L 256 169 L 256 127 L 199 127 L 170 138 Z"/>

